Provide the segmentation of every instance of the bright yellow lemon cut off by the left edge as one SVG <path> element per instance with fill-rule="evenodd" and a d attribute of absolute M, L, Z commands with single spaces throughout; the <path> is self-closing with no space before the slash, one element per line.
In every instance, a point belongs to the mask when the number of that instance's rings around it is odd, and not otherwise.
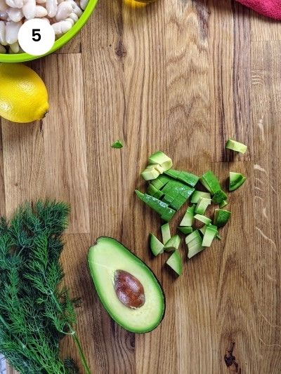
<path fill-rule="evenodd" d="M 48 113 L 48 93 L 40 76 L 23 64 L 0 63 L 0 116 L 27 123 Z"/>

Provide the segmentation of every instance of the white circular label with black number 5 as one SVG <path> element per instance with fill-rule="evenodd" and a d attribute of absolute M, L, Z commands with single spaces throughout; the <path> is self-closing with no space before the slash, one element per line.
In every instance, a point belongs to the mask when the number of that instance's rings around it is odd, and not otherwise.
<path fill-rule="evenodd" d="M 54 29 L 46 20 L 29 20 L 20 27 L 18 43 L 30 55 L 44 55 L 55 43 Z"/>

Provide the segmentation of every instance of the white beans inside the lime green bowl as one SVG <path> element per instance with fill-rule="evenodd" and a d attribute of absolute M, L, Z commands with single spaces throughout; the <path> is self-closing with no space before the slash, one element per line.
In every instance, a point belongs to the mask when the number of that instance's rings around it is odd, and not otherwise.
<path fill-rule="evenodd" d="M 89 0 L 0 0 L 0 53 L 22 53 L 18 32 L 27 20 L 51 24 L 58 39 L 72 28 Z"/>

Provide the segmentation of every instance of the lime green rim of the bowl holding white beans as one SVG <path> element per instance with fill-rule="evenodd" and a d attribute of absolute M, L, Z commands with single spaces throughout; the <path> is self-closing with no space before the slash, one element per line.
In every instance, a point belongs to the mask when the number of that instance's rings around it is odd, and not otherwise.
<path fill-rule="evenodd" d="M 96 7 L 98 0 L 89 0 L 88 5 L 86 6 L 86 9 L 83 11 L 81 17 L 79 20 L 73 25 L 73 27 L 67 31 L 63 36 L 60 36 L 58 40 L 55 41 L 55 44 L 51 48 L 48 53 L 41 56 L 34 56 L 29 55 L 28 53 L 16 53 L 13 54 L 4 54 L 0 53 L 0 62 L 25 62 L 30 60 L 36 60 L 37 58 L 41 58 L 46 55 L 50 55 L 51 53 L 55 52 L 57 49 L 61 48 L 65 44 L 67 44 L 67 41 L 70 41 L 85 25 L 86 21 L 89 19 L 90 15 L 93 13 L 94 8 Z"/>

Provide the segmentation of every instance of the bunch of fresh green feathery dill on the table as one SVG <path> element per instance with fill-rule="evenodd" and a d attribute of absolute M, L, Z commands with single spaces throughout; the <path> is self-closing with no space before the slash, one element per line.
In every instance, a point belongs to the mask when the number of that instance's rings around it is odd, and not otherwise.
<path fill-rule="evenodd" d="M 63 281 L 60 253 L 70 208 L 66 203 L 25 203 L 10 222 L 0 219 L 0 353 L 22 374 L 77 374 L 71 358 L 60 359 L 60 340 L 72 335 L 74 307 Z"/>

